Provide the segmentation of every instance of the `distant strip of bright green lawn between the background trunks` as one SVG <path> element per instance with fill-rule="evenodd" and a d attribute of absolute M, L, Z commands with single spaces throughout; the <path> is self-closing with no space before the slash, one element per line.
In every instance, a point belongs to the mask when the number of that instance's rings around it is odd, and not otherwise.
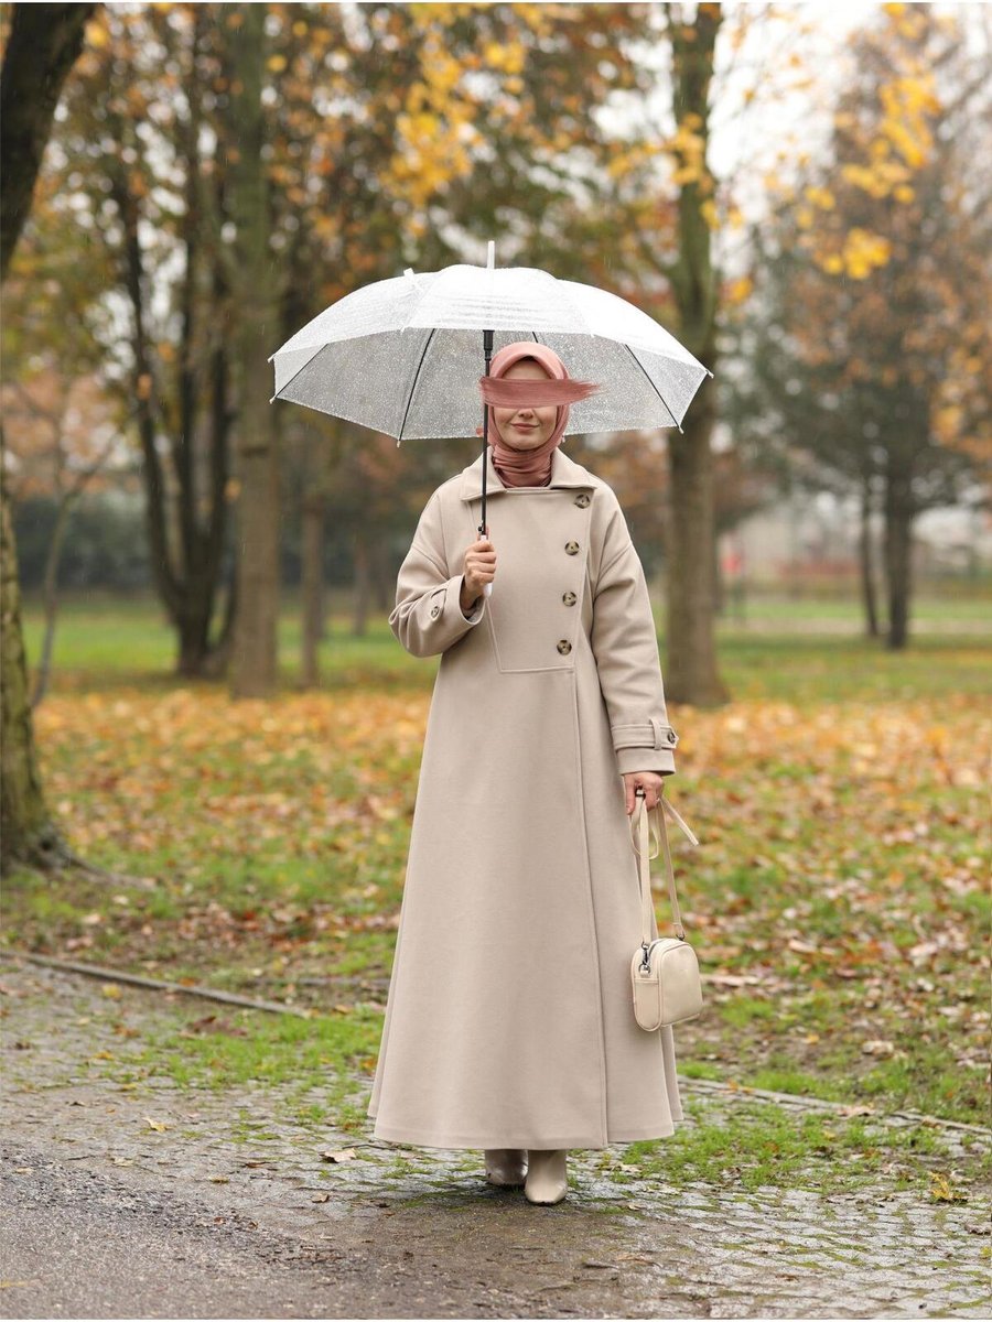
<path fill-rule="evenodd" d="M 984 694 L 992 627 L 980 635 L 921 635 L 902 652 L 886 652 L 880 641 L 862 639 L 853 602 L 762 600 L 755 613 L 772 628 L 753 636 L 733 620 L 717 624 L 720 668 L 737 698 L 784 698 L 792 702 L 835 702 L 845 698 L 889 701 L 942 697 L 950 693 Z M 992 598 L 955 602 L 927 596 L 915 603 L 921 623 L 964 620 L 988 621 Z M 30 660 L 41 642 L 41 613 L 36 603 L 24 604 L 25 645 Z M 664 668 L 664 617 L 655 594 Z M 811 636 L 803 625 L 811 620 L 847 621 L 852 636 Z M 69 599 L 60 608 L 53 657 L 53 690 L 99 690 L 120 685 L 168 690 L 176 682 L 175 633 L 155 600 L 128 603 L 86 596 Z M 287 687 L 299 680 L 299 617 L 291 600 L 283 603 L 279 625 L 280 677 Z M 354 685 L 421 689 L 439 665 L 438 657 L 409 656 L 393 637 L 386 616 L 373 613 L 366 633 L 352 633 L 351 617 L 332 615 L 320 648 L 321 687 Z M 201 683 L 201 681 L 184 681 Z M 209 686 L 209 685 L 208 685 Z"/>

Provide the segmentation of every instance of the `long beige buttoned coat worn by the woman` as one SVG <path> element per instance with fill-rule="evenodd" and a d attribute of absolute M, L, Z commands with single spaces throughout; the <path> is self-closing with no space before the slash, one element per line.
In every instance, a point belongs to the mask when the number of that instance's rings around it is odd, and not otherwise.
<path fill-rule="evenodd" d="M 505 488 L 489 451 L 496 575 L 466 616 L 481 463 L 427 501 L 389 617 L 440 664 L 368 1114 L 434 1147 L 667 1137 L 672 1029 L 638 1026 L 630 980 L 623 772 L 671 775 L 679 742 L 644 571 L 602 479 L 558 447 L 548 486 Z"/>

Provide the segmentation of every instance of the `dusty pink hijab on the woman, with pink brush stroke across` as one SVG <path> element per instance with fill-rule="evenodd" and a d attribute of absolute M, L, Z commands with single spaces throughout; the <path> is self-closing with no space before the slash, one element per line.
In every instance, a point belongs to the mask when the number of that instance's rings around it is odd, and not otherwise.
<path fill-rule="evenodd" d="M 521 358 L 534 358 L 548 373 L 549 379 L 546 382 L 526 379 L 504 382 L 501 379 L 504 373 Z M 517 340 L 504 345 L 499 353 L 493 354 L 489 375 L 479 378 L 479 390 L 489 410 L 488 440 L 492 447 L 492 467 L 499 473 L 504 486 L 548 485 L 552 480 L 552 452 L 565 435 L 569 403 L 585 399 L 598 389 L 599 386 L 589 381 L 573 381 L 565 364 L 546 344 Z M 537 449 L 517 449 L 515 446 L 507 444 L 496 426 L 495 405 L 501 408 L 512 408 L 522 405 L 552 403 L 558 406 L 558 414 L 554 431 L 544 446 L 538 446 Z M 479 435 L 481 435 L 481 428 L 479 428 Z"/>

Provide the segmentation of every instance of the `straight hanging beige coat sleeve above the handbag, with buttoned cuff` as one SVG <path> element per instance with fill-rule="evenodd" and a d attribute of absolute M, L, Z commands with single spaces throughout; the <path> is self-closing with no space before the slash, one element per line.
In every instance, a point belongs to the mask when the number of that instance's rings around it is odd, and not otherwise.
<path fill-rule="evenodd" d="M 675 772 L 679 736 L 668 723 L 651 598 L 619 502 L 610 516 L 590 641 L 620 775 Z"/>

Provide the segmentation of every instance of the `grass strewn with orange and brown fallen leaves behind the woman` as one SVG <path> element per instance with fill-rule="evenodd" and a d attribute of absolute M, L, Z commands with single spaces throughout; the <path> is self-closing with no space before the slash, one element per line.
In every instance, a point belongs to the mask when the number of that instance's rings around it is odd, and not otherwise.
<path fill-rule="evenodd" d="M 316 972 L 308 952 L 325 964 L 328 949 L 392 940 L 429 709 L 429 691 L 374 687 L 50 695 L 37 739 L 66 834 L 81 854 L 155 873 L 171 903 L 90 896 L 58 952 L 112 933 L 139 958 L 168 932 L 192 964 L 265 949 L 259 972 L 295 985 Z M 803 1063 L 843 1034 L 865 1068 L 929 1044 L 948 1069 L 981 1069 L 989 705 L 765 699 L 669 718 L 680 744 L 665 793 L 700 838 L 671 833 L 672 853 L 710 1005 L 749 1006 L 749 1031 Z M 304 870 L 327 878 L 316 896 L 312 883 L 299 894 Z"/>

